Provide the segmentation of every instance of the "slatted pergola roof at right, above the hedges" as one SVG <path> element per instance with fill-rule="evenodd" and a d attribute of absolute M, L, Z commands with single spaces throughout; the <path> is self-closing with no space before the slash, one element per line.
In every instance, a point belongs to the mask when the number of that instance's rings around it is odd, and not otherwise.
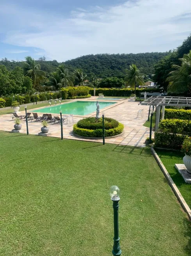
<path fill-rule="evenodd" d="M 141 105 L 160 105 L 160 106 L 177 106 L 191 107 L 191 98 L 189 97 L 174 97 L 174 96 L 151 96 L 147 98 Z"/>

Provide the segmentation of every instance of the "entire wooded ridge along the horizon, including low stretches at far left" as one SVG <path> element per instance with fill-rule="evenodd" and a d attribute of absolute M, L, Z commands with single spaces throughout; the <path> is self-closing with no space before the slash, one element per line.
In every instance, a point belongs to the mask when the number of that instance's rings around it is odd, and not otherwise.
<path fill-rule="evenodd" d="M 83 69 L 87 74 L 87 78 L 90 78 L 92 74 L 95 74 L 98 78 L 105 78 L 108 76 L 116 76 L 123 78 L 125 76 L 125 69 L 129 69 L 129 65 L 136 64 L 138 68 L 141 68 L 141 72 L 151 75 L 154 74 L 154 65 L 169 53 L 137 53 L 137 54 L 90 54 L 81 56 L 73 60 L 59 63 L 56 60 L 46 61 L 44 57 L 39 58 L 36 61 L 41 65 L 41 70 L 51 73 L 54 72 L 57 67 L 64 64 L 66 68 L 73 71 L 75 68 Z M 9 61 L 4 58 L 0 61 L 0 65 L 5 65 L 9 71 L 14 67 L 22 67 L 22 62 L 16 62 L 14 60 Z"/>

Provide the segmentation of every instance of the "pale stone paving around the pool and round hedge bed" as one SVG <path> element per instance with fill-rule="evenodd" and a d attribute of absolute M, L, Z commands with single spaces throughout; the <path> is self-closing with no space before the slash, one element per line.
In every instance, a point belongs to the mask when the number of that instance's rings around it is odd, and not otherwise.
<path fill-rule="evenodd" d="M 89 101 L 89 100 L 96 101 L 96 98 L 97 96 L 96 97 L 92 96 L 91 98 L 88 98 L 88 99 L 82 99 L 82 101 Z M 79 100 L 80 99 L 78 99 L 78 101 Z M 116 102 L 116 104 L 113 104 L 109 107 L 100 109 L 100 116 L 102 115 L 102 112 L 104 112 L 106 117 L 114 118 L 119 122 L 123 123 L 125 126 L 123 135 L 115 138 L 105 139 L 105 143 L 114 143 L 114 144 L 120 144 L 124 146 L 130 145 L 130 146 L 136 146 L 136 147 L 145 147 L 144 142 L 146 138 L 149 137 L 149 128 L 143 126 L 143 124 L 148 118 L 149 107 L 145 105 L 138 105 L 138 104 L 139 102 L 131 102 L 129 101 L 129 99 L 125 99 L 123 101 Z M 143 113 L 144 113 L 143 118 L 141 117 L 137 118 L 137 112 L 139 109 L 143 109 Z M 32 113 L 32 110 L 30 109 L 28 112 Z M 23 111 L 23 112 L 20 112 L 19 114 L 25 115 L 25 112 Z M 95 114 L 96 112 L 91 113 L 88 116 L 95 116 Z M 54 114 L 54 115 L 56 116 L 59 114 Z M 74 116 L 74 123 L 77 123 L 80 119 L 82 119 L 82 116 Z M 41 123 L 38 123 L 34 120 L 32 122 L 29 120 L 28 123 L 29 123 L 30 134 L 37 135 L 41 131 Z M 0 116 L 0 130 L 11 132 L 12 129 L 14 129 L 13 126 L 14 126 L 14 123 L 12 122 L 12 114 L 5 114 Z M 68 124 L 64 123 L 63 125 L 64 138 L 72 139 L 72 140 L 102 142 L 102 140 L 89 140 L 89 139 L 78 138 L 73 135 L 72 130 L 73 130 L 73 123 L 68 123 Z M 49 132 L 51 133 L 50 134 L 51 137 L 61 138 L 60 124 L 50 123 Z M 22 122 L 22 129 L 20 130 L 20 133 L 26 133 L 25 120 L 23 120 Z"/>

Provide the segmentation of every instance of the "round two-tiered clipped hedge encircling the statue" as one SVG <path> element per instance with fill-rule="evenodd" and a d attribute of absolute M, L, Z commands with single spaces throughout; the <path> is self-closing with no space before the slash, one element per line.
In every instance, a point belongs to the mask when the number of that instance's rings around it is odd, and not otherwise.
<path fill-rule="evenodd" d="M 112 137 L 123 132 L 124 125 L 112 118 L 104 118 L 105 137 Z M 73 133 L 83 137 L 101 138 L 103 136 L 102 118 L 88 117 L 73 125 Z"/>

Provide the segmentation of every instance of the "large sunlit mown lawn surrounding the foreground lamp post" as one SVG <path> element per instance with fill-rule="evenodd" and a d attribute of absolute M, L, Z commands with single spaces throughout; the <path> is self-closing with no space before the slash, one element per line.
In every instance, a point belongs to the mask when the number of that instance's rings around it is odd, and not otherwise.
<path fill-rule="evenodd" d="M 188 256 L 191 226 L 149 148 L 0 132 L 0 255 Z"/>

